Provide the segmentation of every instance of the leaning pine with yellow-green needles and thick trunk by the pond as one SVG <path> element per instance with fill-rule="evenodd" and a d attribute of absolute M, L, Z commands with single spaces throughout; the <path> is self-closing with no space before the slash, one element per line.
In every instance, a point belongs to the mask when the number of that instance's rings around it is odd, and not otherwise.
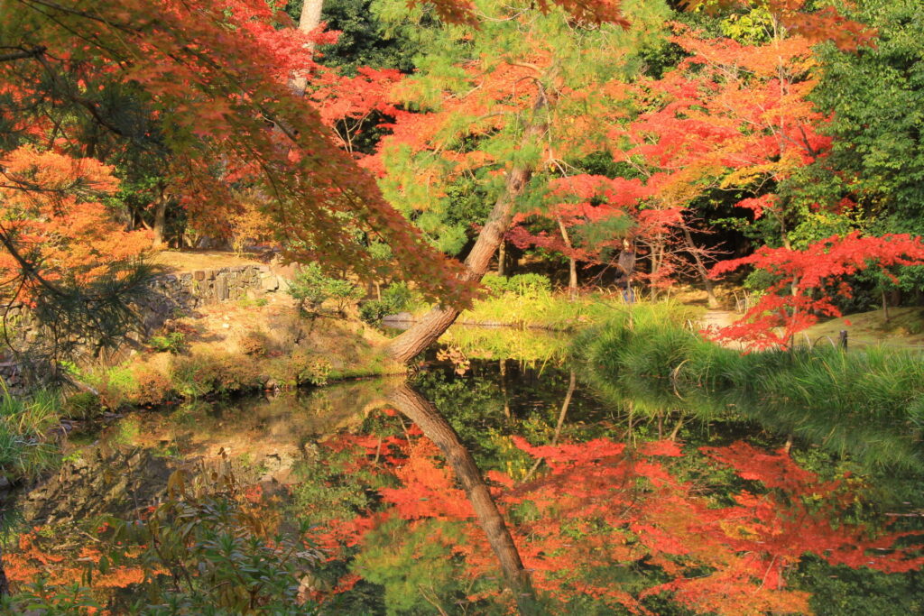
<path fill-rule="evenodd" d="M 399 24 L 431 18 L 397 0 L 381 6 L 383 18 Z M 626 30 L 626 19 L 608 6 L 595 23 L 551 6 L 476 2 L 467 13 L 479 16 L 475 25 L 419 29 L 418 72 L 398 93 L 420 113 L 398 117 L 395 134 L 384 139 L 381 186 L 407 217 L 428 225 L 449 221 L 446 202 L 460 178 L 477 187 L 492 210 L 466 257 L 465 279 L 480 280 L 515 211 L 539 200 L 549 178 L 600 149 L 630 52 L 658 35 L 668 13 L 660 2 L 625 3 L 633 24 Z M 392 355 L 417 355 L 457 315 L 437 308 L 395 339 Z"/>

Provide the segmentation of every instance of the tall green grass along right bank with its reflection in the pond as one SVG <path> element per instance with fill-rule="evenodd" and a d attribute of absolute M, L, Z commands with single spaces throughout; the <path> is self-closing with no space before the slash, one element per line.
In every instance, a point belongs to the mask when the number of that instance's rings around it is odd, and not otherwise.
<path fill-rule="evenodd" d="M 924 463 L 924 357 L 832 347 L 742 355 L 670 306 L 637 305 L 578 336 L 573 354 L 606 397 L 639 410 L 744 417 L 868 465 Z"/>

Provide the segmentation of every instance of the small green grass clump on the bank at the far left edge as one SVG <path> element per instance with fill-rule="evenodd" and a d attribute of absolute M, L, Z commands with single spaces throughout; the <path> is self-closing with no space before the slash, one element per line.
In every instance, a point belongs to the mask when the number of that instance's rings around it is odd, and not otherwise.
<path fill-rule="evenodd" d="M 0 474 L 10 481 L 37 477 L 55 465 L 58 449 L 49 434 L 59 424 L 60 398 L 38 391 L 30 398 L 0 396 Z"/>

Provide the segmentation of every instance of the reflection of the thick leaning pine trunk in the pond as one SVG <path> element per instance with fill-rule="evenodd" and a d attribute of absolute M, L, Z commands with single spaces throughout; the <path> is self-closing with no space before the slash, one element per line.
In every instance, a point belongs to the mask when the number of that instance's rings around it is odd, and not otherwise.
<path fill-rule="evenodd" d="M 536 596 L 529 580 L 529 573 L 523 567 L 517 546 L 507 530 L 504 518 L 497 510 L 488 486 L 481 478 L 481 472 L 465 445 L 459 441 L 456 430 L 440 415 L 423 396 L 407 384 L 397 388 L 388 396 L 389 402 L 416 423 L 423 433 L 443 452 L 453 466 L 462 488 L 471 501 L 479 524 L 488 536 L 488 543 L 501 563 L 501 570 L 507 585 L 517 596 L 517 607 L 521 614 L 536 613 Z"/>

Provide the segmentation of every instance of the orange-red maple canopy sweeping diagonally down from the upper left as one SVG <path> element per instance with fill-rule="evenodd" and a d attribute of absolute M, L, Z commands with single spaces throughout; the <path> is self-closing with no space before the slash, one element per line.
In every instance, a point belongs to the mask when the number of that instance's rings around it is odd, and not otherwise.
<path fill-rule="evenodd" d="M 244 182 L 265 195 L 261 211 L 291 257 L 325 256 L 369 276 L 393 269 L 432 295 L 468 296 L 456 268 L 381 198 L 312 103 L 289 90 L 288 79 L 316 66 L 313 44 L 331 35 L 298 31 L 262 0 L 21 4 L 0 16 L 16 34 L 0 84 L 26 112 L 0 114 L 18 135 L 35 141 L 54 132 L 54 116 L 42 113 L 51 104 L 130 139 L 105 97 L 110 84 L 123 84 L 163 136 L 167 190 L 190 215 L 221 224 L 236 202 L 234 184 Z M 355 227 L 393 246 L 395 260 L 374 260 Z"/>

